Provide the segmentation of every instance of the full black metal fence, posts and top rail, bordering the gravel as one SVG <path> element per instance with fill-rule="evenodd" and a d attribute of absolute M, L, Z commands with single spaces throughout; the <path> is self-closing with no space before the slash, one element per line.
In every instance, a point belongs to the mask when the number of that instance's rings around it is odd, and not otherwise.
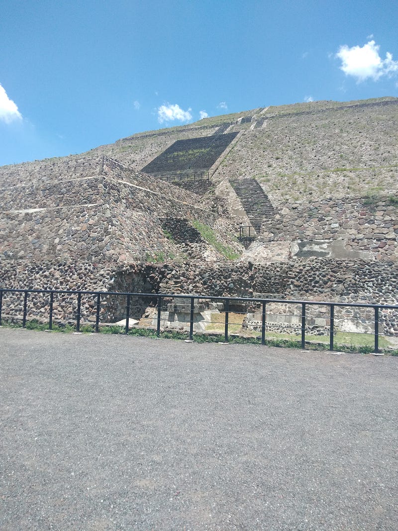
<path fill-rule="evenodd" d="M 193 337 L 194 328 L 194 305 L 195 300 L 206 299 L 209 301 L 218 301 L 224 303 L 225 312 L 225 326 L 224 326 L 224 341 L 228 342 L 228 327 L 229 327 L 229 305 L 232 302 L 240 303 L 258 303 L 262 306 L 262 322 L 261 322 L 261 343 L 265 344 L 265 323 L 266 323 L 266 305 L 269 303 L 280 304 L 297 304 L 301 305 L 301 348 L 305 348 L 305 321 L 306 321 L 306 308 L 307 306 L 327 306 L 330 308 L 330 350 L 333 350 L 333 336 L 334 336 L 334 309 L 335 307 L 352 307 L 352 308 L 373 308 L 374 310 L 374 350 L 375 353 L 379 352 L 379 311 L 380 310 L 398 310 L 398 305 L 394 304 L 366 304 L 366 303 L 347 303 L 347 302 L 325 302 L 325 301 L 297 301 L 287 299 L 272 299 L 272 298 L 250 298 L 250 297 L 220 297 L 212 295 L 188 295 L 188 294 L 174 294 L 174 293 L 132 293 L 132 292 L 102 292 L 92 290 L 70 290 L 70 289 L 23 289 L 23 288 L 0 288 L 0 326 L 2 324 L 2 307 L 3 298 L 5 293 L 23 293 L 23 315 L 22 315 L 22 327 L 26 327 L 27 322 L 27 309 L 28 309 L 28 295 L 30 293 L 49 294 L 49 329 L 53 326 L 53 305 L 54 295 L 75 295 L 77 297 L 77 311 L 76 311 L 76 330 L 80 331 L 80 318 L 81 318 L 81 297 L 82 295 L 93 295 L 97 300 L 96 307 L 96 322 L 94 329 L 99 331 L 100 320 L 100 303 L 102 296 L 123 296 L 126 297 L 126 327 L 125 333 L 128 333 L 129 328 L 129 312 L 131 308 L 131 297 L 146 297 L 157 299 L 157 335 L 160 335 L 160 322 L 161 322 L 161 303 L 163 298 L 179 298 L 189 299 L 191 302 L 190 319 L 189 319 L 189 339 Z"/>

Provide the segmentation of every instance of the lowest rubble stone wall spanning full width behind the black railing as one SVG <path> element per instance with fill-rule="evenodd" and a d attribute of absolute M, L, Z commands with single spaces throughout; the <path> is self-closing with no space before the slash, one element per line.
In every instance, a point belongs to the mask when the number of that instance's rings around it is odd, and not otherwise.
<path fill-rule="evenodd" d="M 344 268 L 343 268 L 344 265 Z M 398 267 L 393 262 L 348 262 L 313 259 L 292 263 L 273 263 L 268 267 L 231 264 L 215 266 L 183 264 L 115 263 L 102 261 L 81 263 L 71 260 L 32 262 L 0 261 L 0 287 L 21 289 L 101 290 L 105 292 L 197 294 L 267 299 L 331 301 L 346 303 L 397 304 Z M 76 318 L 76 296 L 59 297 L 54 318 L 73 321 Z M 7 294 L 3 316 L 22 315 L 23 295 Z M 172 301 L 169 301 L 172 302 Z M 145 307 L 156 303 L 155 297 L 139 296 L 132 300 L 131 316 L 140 318 Z M 126 298 L 109 295 L 101 301 L 101 322 L 114 322 L 125 315 Z M 235 304 L 232 311 L 244 312 L 249 329 L 259 326 L 259 305 Z M 48 319 L 49 296 L 30 295 L 29 318 Z M 298 333 L 301 305 L 268 303 L 269 329 Z M 93 322 L 96 298 L 82 299 L 82 322 Z M 349 307 L 335 310 L 336 329 L 373 332 L 373 309 Z M 398 336 L 398 311 L 380 312 L 380 333 Z M 326 306 L 307 306 L 307 332 L 327 333 L 330 316 Z"/>

